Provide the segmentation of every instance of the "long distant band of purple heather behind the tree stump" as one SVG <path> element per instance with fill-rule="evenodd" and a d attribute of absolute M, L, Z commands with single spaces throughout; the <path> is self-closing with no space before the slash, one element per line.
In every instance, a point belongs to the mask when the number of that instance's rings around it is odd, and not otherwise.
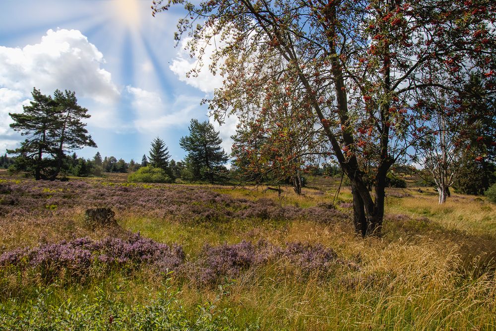
<path fill-rule="evenodd" d="M 295 219 L 317 222 L 346 220 L 348 215 L 325 207 L 281 206 L 272 199 L 236 199 L 200 186 L 87 183 L 81 180 L 49 182 L 16 180 L 1 183 L 10 194 L 1 196 L 0 215 L 47 215 L 74 206 L 111 207 L 186 222 L 232 219 Z M 1 221 L 0 221 L 1 223 Z"/>

